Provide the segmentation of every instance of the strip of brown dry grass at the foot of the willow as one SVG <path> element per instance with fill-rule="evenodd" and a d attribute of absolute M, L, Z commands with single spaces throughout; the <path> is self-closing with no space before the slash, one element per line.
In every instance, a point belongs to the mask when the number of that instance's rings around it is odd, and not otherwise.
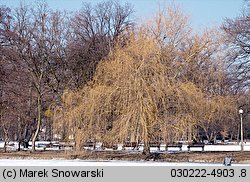
<path fill-rule="evenodd" d="M 250 163 L 250 152 L 182 152 L 161 154 L 161 162 L 208 162 L 222 163 L 225 157 L 232 157 L 234 163 Z M 147 156 L 126 151 L 0 151 L 0 159 L 81 159 L 81 160 L 127 160 L 144 161 Z"/>

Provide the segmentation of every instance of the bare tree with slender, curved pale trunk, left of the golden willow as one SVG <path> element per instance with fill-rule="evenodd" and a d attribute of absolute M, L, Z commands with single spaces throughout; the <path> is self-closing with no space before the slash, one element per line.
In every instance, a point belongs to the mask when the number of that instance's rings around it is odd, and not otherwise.
<path fill-rule="evenodd" d="M 35 141 L 42 120 L 45 119 L 44 112 L 52 102 L 59 100 L 63 85 L 66 85 L 62 74 L 66 69 L 66 29 L 62 13 L 51 12 L 47 4 L 42 2 L 32 9 L 20 5 L 12 17 L 12 34 L 9 38 L 11 51 L 15 56 L 9 56 L 9 60 L 12 61 L 12 66 L 22 70 L 24 76 L 19 77 L 24 79 L 20 83 L 28 90 L 26 93 L 29 93 L 26 97 L 28 108 L 36 113 L 36 129 L 32 138 L 35 150 Z M 33 107 L 34 103 L 36 109 Z M 22 112 L 22 115 L 31 116 L 33 112 Z M 30 122 L 33 120 L 30 119 Z"/>

